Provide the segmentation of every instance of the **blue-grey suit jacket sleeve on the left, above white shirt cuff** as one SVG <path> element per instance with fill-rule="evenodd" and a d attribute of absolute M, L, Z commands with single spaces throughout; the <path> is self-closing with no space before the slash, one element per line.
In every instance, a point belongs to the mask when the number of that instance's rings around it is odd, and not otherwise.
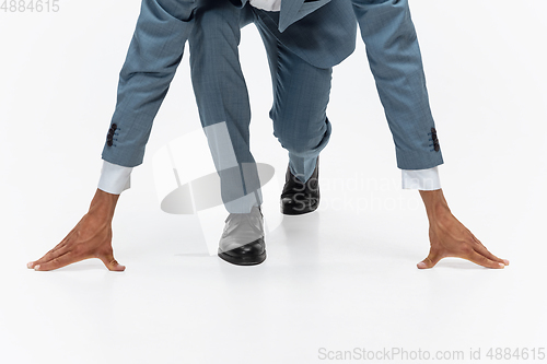
<path fill-rule="evenodd" d="M 194 25 L 194 0 L 143 0 L 119 74 L 113 139 L 103 158 L 132 167 L 142 163 L 158 114 Z"/>

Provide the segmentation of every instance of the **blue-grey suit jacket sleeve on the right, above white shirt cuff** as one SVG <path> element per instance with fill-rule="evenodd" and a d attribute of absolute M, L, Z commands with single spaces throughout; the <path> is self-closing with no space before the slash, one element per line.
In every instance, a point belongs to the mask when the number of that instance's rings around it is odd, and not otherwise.
<path fill-rule="evenodd" d="M 401 169 L 442 164 L 408 0 L 352 0 Z"/>

